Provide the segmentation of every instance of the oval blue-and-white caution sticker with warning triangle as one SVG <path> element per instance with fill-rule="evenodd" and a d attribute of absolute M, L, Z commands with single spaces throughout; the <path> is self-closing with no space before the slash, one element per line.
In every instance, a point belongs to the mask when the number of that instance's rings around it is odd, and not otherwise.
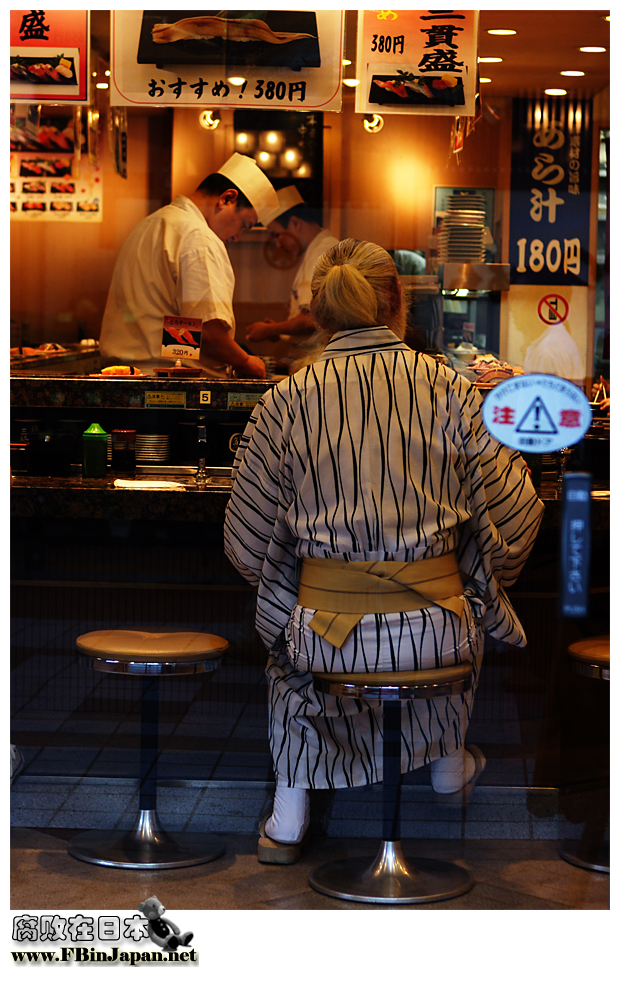
<path fill-rule="evenodd" d="M 491 436 L 524 453 L 573 447 L 592 422 L 581 389 L 556 375 L 515 375 L 496 385 L 482 406 Z"/>

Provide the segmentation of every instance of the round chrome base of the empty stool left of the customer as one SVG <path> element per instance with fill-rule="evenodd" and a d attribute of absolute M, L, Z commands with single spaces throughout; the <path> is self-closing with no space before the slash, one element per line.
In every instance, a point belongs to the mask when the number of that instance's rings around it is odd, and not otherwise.
<path fill-rule="evenodd" d="M 137 826 L 126 832 L 90 831 L 69 843 L 75 859 L 125 870 L 170 870 L 217 859 L 225 845 L 216 835 L 166 832 L 154 811 L 141 811 Z"/>

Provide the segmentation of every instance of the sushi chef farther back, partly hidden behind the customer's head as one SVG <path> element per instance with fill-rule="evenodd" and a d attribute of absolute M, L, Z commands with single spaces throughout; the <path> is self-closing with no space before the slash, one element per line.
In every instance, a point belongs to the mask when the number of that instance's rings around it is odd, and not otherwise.
<path fill-rule="evenodd" d="M 338 239 L 319 223 L 318 211 L 304 202 L 295 186 L 278 190 L 278 206 L 263 219 L 271 237 L 280 250 L 301 258 L 291 287 L 287 320 L 263 320 L 247 329 L 248 341 L 279 340 L 280 335 L 302 337 L 313 333 L 310 313 L 312 272 L 318 259 Z"/>

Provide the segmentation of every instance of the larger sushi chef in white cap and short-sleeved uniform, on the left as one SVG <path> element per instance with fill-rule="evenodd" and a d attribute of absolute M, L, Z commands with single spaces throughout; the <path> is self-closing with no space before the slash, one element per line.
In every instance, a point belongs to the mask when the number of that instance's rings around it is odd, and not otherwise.
<path fill-rule="evenodd" d="M 235 276 L 226 250 L 278 207 L 254 159 L 233 154 L 190 196 L 145 217 L 118 256 L 99 341 L 106 365 L 143 372 L 173 365 L 161 357 L 164 316 L 202 320 L 200 359 L 210 378 L 265 378 L 265 365 L 235 343 Z"/>

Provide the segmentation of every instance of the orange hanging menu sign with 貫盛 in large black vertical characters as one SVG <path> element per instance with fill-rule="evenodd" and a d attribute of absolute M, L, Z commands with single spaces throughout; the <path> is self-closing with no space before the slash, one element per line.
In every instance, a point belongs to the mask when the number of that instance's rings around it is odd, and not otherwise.
<path fill-rule="evenodd" d="M 358 113 L 471 117 L 477 10 L 361 10 Z"/>

